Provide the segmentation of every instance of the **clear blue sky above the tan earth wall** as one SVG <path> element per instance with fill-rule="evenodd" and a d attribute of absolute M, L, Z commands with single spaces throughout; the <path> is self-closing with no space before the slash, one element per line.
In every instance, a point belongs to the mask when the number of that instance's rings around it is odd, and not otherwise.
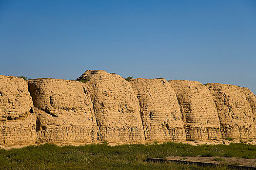
<path fill-rule="evenodd" d="M 256 0 L 0 0 L 0 74 L 86 69 L 256 94 Z"/>

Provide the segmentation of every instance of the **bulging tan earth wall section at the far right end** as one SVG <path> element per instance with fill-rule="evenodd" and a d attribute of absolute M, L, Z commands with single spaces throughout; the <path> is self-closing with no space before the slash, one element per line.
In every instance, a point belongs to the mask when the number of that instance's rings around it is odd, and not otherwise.
<path fill-rule="evenodd" d="M 236 85 L 208 83 L 217 106 L 222 136 L 254 138 L 254 94 Z"/>

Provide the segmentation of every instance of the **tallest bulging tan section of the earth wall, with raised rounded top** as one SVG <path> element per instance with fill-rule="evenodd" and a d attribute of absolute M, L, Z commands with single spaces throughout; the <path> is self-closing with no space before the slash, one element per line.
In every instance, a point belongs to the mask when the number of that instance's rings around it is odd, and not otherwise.
<path fill-rule="evenodd" d="M 98 140 L 139 143 L 144 140 L 138 99 L 131 85 L 117 74 L 87 70 L 77 80 L 88 81 L 99 128 Z"/>

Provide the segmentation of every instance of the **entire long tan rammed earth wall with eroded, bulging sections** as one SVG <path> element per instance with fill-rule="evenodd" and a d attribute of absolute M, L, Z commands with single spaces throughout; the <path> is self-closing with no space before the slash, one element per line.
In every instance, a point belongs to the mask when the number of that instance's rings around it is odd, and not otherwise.
<path fill-rule="evenodd" d="M 0 75 L 0 145 L 145 143 L 256 137 L 248 88 L 132 79 L 87 70 L 77 80 Z"/>

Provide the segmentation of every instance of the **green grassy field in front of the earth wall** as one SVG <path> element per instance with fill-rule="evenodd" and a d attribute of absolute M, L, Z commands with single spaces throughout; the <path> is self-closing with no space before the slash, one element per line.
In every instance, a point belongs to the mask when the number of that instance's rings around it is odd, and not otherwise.
<path fill-rule="evenodd" d="M 192 146 L 168 142 L 113 147 L 108 144 L 59 147 L 44 144 L 0 150 L 0 170 L 231 170 L 225 166 L 216 168 L 145 161 L 147 157 L 198 155 L 256 158 L 256 145 L 231 143 Z"/>

